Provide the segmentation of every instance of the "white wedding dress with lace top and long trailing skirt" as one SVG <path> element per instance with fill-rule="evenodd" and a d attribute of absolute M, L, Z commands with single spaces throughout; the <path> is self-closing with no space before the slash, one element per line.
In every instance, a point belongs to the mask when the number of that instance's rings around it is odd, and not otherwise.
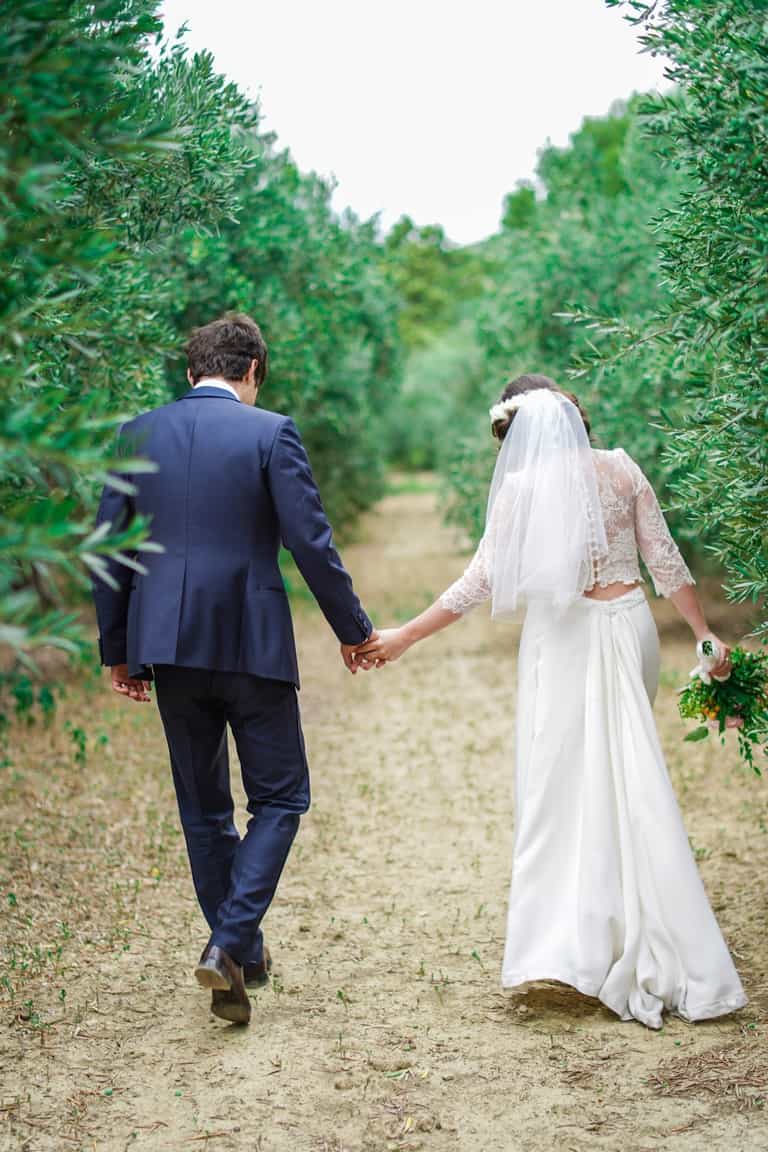
<path fill-rule="evenodd" d="M 656 591 L 691 574 L 653 488 L 622 449 L 594 450 L 608 553 L 595 583 Z M 464 576 L 441 597 L 463 614 L 492 596 L 500 495 Z M 689 846 L 652 704 L 659 638 L 645 592 L 532 605 L 518 662 L 516 832 L 502 984 L 557 980 L 622 1020 L 660 1028 L 746 1003 Z"/>

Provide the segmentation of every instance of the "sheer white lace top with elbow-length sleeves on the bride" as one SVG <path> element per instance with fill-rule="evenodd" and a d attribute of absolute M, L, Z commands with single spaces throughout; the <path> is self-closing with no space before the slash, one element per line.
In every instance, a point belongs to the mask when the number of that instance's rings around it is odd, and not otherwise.
<path fill-rule="evenodd" d="M 653 578 L 659 596 L 671 596 L 684 584 L 694 584 L 675 544 L 656 494 L 647 478 L 623 448 L 593 449 L 600 505 L 608 538 L 608 556 L 599 561 L 591 588 L 599 584 L 642 582 L 638 553 Z M 492 594 L 488 573 L 488 538 L 493 522 L 503 516 L 503 500 L 464 575 L 440 597 L 440 606 L 462 615 Z"/>

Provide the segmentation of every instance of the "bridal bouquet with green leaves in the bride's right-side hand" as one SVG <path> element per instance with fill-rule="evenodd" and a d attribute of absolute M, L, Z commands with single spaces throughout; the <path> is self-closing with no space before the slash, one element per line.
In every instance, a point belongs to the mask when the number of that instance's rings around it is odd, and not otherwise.
<path fill-rule="evenodd" d="M 762 775 L 754 746 L 762 745 L 768 756 L 768 653 L 733 649 L 728 680 L 714 680 L 707 670 L 715 655 L 710 641 L 702 642 L 700 654 L 701 662 L 680 689 L 679 710 L 683 719 L 702 722 L 685 740 L 705 740 L 714 729 L 724 743 L 725 729 L 735 728 L 742 759 Z"/>

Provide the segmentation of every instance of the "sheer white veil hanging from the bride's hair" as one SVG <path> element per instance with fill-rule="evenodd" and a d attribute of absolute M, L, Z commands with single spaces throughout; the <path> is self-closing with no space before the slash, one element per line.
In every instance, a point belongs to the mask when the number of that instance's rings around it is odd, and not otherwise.
<path fill-rule="evenodd" d="M 594 457 L 581 414 L 562 393 L 526 392 L 499 453 L 486 517 L 494 616 L 518 604 L 564 608 L 608 553 Z"/>

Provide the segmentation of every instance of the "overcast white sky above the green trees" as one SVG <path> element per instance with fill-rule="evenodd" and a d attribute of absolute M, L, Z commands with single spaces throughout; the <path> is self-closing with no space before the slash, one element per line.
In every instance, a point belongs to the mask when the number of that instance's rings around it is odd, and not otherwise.
<path fill-rule="evenodd" d="M 469 243 L 547 139 L 663 86 L 602 0 L 165 0 L 166 29 L 258 97 L 264 127 L 334 203 Z"/>

